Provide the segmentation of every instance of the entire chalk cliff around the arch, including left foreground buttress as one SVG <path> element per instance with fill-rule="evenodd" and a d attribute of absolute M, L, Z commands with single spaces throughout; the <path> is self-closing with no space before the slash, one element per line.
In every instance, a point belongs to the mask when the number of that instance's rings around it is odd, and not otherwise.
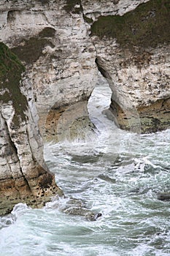
<path fill-rule="evenodd" d="M 169 127 L 169 0 L 1 0 L 0 12 L 0 41 L 26 67 L 1 45 L 12 58 L 5 65 L 19 72 L 15 87 L 13 75 L 1 73 L 1 211 L 58 192 L 39 129 L 51 140 L 58 132 L 67 138 L 68 125 L 71 137 L 72 124 L 90 125 L 86 105 L 98 70 L 112 89 L 110 110 L 120 128 Z"/>

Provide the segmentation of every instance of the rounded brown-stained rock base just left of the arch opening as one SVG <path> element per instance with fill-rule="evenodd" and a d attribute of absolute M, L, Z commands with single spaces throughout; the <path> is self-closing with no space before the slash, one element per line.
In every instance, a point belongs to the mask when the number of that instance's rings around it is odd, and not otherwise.
<path fill-rule="evenodd" d="M 94 135 L 96 127 L 88 116 L 87 100 L 74 105 L 55 106 L 47 113 L 47 118 L 40 118 L 39 127 L 47 141 L 85 140 L 85 136 Z M 45 125 L 43 128 L 43 124 Z"/>

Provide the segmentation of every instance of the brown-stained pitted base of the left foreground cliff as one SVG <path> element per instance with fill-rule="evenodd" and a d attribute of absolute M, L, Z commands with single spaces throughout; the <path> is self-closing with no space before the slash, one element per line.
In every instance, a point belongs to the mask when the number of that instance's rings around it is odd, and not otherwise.
<path fill-rule="evenodd" d="M 34 187 L 35 180 L 38 184 Z M 42 174 L 28 181 L 23 177 L 0 181 L 0 215 L 9 214 L 17 203 L 41 208 L 55 195 L 62 196 L 63 192 L 55 184 L 55 177 L 51 173 Z"/>

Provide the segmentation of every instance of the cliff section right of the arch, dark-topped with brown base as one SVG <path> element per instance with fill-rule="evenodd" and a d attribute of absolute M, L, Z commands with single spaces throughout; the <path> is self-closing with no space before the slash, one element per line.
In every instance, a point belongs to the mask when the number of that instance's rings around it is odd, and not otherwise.
<path fill-rule="evenodd" d="M 112 89 L 115 121 L 134 132 L 166 129 L 170 127 L 170 3 L 150 0 L 128 13 L 117 11 L 121 16 L 111 10 L 98 16 L 91 35 L 96 64 Z"/>

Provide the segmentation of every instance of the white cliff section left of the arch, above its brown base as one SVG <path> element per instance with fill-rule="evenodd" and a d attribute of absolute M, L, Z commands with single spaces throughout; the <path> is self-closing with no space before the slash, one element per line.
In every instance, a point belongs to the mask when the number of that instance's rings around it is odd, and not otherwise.
<path fill-rule="evenodd" d="M 1 40 L 25 64 L 34 85 L 39 127 L 53 139 L 58 113 L 87 100 L 96 84 L 96 50 L 88 37 L 80 1 L 4 1 Z M 48 116 L 48 118 L 47 118 Z M 45 128 L 46 127 L 46 128 Z M 55 137 L 55 135 L 54 135 Z"/>

